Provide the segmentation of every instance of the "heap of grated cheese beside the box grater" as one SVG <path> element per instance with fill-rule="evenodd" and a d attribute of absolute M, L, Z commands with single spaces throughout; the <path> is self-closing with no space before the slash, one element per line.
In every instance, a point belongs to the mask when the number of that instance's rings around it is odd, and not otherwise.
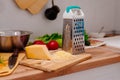
<path fill-rule="evenodd" d="M 70 58 L 72 58 L 73 55 L 71 53 L 68 53 L 66 51 L 57 51 L 52 55 L 52 59 L 53 60 L 68 60 Z"/>

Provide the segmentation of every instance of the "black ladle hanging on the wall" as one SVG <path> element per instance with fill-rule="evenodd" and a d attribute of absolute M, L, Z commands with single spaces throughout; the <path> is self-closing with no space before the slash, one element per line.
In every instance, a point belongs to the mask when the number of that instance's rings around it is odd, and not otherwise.
<path fill-rule="evenodd" d="M 59 12 L 60 12 L 59 7 L 54 5 L 54 0 L 52 0 L 52 7 L 46 9 L 45 17 L 49 20 L 55 20 Z"/>

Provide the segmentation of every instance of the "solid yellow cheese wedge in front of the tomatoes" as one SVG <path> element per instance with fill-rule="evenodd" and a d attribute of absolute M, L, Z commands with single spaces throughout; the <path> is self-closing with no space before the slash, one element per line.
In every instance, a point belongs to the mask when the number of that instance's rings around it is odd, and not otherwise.
<path fill-rule="evenodd" d="M 28 58 L 44 60 L 51 59 L 51 54 L 46 45 L 31 45 L 25 47 L 25 50 Z"/>

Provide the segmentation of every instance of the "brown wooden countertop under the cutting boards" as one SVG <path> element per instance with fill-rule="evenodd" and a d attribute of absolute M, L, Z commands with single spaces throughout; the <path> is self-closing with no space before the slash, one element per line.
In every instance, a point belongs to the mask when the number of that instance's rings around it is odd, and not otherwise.
<path fill-rule="evenodd" d="M 48 73 L 19 65 L 11 75 L 0 77 L 0 80 L 43 80 L 120 62 L 120 49 L 117 48 L 101 46 L 87 49 L 86 53 L 92 54 L 92 58 L 62 71 Z"/>

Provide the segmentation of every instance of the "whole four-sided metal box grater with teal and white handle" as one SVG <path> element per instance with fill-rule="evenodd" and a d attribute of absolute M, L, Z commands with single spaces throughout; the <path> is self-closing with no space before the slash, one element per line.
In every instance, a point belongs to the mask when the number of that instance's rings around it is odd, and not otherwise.
<path fill-rule="evenodd" d="M 63 14 L 63 50 L 80 54 L 84 50 L 84 14 L 79 6 L 68 6 Z"/>

